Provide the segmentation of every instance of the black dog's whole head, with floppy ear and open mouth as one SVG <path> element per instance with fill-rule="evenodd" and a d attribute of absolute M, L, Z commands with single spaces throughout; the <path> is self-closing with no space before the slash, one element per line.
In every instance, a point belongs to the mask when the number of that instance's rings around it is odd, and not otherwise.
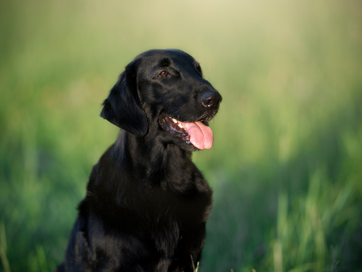
<path fill-rule="evenodd" d="M 101 117 L 138 137 L 152 133 L 186 150 L 211 148 L 207 121 L 222 98 L 202 78 L 199 63 L 181 50 L 138 55 L 103 102 Z"/>

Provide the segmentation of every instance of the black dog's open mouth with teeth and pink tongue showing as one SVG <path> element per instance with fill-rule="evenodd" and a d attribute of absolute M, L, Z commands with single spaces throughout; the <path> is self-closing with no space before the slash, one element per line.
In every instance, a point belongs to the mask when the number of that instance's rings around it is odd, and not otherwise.
<path fill-rule="evenodd" d="M 160 116 L 159 123 L 165 131 L 180 137 L 187 144 L 193 144 L 198 149 L 211 148 L 214 143 L 211 128 L 202 121 L 181 122 L 169 116 Z"/>

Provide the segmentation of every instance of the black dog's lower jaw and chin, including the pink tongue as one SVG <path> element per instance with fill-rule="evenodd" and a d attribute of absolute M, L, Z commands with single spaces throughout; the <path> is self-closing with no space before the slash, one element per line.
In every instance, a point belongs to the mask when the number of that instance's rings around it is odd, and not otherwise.
<path fill-rule="evenodd" d="M 205 116 L 196 121 L 180 121 L 167 115 L 161 115 L 159 124 L 169 133 L 174 144 L 186 151 L 197 151 L 209 149 L 213 145 L 213 133 L 207 123 L 213 116 Z"/>

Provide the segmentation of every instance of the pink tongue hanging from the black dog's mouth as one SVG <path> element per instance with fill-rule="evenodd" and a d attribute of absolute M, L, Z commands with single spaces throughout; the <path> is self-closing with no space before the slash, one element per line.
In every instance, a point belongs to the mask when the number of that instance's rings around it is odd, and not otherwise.
<path fill-rule="evenodd" d="M 184 123 L 184 127 L 190 135 L 190 142 L 198 149 L 208 149 L 214 144 L 214 135 L 207 125 L 200 121 L 195 123 Z"/>

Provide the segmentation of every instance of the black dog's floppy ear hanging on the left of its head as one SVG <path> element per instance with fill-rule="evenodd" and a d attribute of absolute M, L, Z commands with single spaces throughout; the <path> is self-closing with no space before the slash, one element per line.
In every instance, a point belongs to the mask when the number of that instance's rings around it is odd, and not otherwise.
<path fill-rule="evenodd" d="M 135 61 L 131 62 L 119 75 L 103 102 L 101 117 L 136 136 L 144 136 L 148 123 L 138 96 L 135 66 Z"/>

